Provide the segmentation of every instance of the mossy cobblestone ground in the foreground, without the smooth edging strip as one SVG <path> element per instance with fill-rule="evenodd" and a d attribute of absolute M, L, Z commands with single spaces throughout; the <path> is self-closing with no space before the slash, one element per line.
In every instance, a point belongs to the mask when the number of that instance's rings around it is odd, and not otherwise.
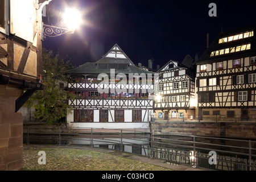
<path fill-rule="evenodd" d="M 46 152 L 46 164 L 39 165 L 39 151 Z M 172 169 L 123 158 L 104 152 L 74 148 L 23 146 L 24 171 L 171 171 Z"/>

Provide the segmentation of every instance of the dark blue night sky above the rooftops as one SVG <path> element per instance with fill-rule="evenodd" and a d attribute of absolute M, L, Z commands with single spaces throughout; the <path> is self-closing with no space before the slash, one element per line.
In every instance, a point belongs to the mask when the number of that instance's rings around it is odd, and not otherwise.
<path fill-rule="evenodd" d="M 256 23 L 255 1 L 53 0 L 49 6 L 80 8 L 84 24 L 73 35 L 44 40 L 75 66 L 97 61 L 115 43 L 134 64 L 154 59 L 162 67 L 186 55 L 199 57 L 221 31 Z M 217 5 L 217 17 L 208 12 Z"/>

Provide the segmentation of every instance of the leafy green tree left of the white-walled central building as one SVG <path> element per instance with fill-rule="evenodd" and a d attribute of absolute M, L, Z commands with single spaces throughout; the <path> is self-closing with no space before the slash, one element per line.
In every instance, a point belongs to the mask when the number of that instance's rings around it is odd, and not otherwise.
<path fill-rule="evenodd" d="M 67 82 L 69 78 L 67 71 L 73 66 L 70 60 L 64 61 L 59 53 L 54 55 L 53 51 L 43 49 L 42 57 L 44 90 L 36 91 L 27 101 L 26 106 L 35 107 L 35 119 L 52 124 L 66 116 L 67 110 L 70 108 L 67 101 L 75 98 L 73 93 L 60 88 L 60 82 Z"/>

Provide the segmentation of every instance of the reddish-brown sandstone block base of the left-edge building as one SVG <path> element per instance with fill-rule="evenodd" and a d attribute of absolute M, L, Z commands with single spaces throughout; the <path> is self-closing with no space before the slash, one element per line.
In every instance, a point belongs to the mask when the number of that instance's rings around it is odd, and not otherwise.
<path fill-rule="evenodd" d="M 23 168 L 23 117 L 15 101 L 23 90 L 0 86 L 0 171 Z"/>

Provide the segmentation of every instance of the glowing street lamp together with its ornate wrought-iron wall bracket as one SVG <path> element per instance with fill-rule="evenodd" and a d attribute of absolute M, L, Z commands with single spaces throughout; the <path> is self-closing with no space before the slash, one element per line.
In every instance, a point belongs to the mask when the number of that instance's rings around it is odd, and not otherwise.
<path fill-rule="evenodd" d="M 79 10 L 67 8 L 63 15 L 63 22 L 67 28 L 43 24 L 42 40 L 54 38 L 63 34 L 73 34 L 81 23 Z"/>

